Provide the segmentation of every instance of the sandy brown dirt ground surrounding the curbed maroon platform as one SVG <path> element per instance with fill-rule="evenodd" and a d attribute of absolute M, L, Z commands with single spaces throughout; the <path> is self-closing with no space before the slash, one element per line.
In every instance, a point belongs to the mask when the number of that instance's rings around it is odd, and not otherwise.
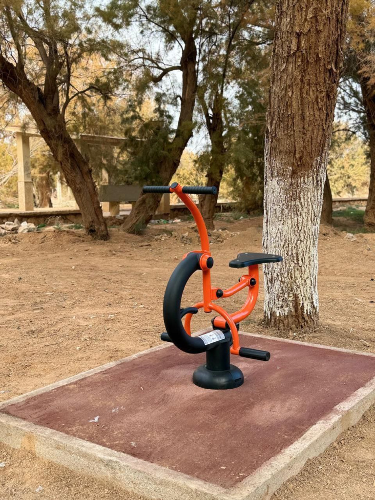
<path fill-rule="evenodd" d="M 260 251 L 261 218 L 216 223 L 211 234 L 212 284 L 237 281 L 228 261 L 239 251 Z M 111 229 L 108 242 L 81 231 L 45 231 L 0 238 L 0 401 L 119 359 L 160 342 L 162 294 L 181 255 L 197 248 L 189 221 L 151 226 L 140 236 Z M 289 338 L 375 352 L 375 234 L 321 227 L 321 326 L 290 331 Z M 183 305 L 199 298 L 199 277 Z M 243 296 L 226 299 L 235 310 Z M 242 329 L 260 326 L 263 290 Z M 193 328 L 209 325 L 197 314 Z M 0 445 L 0 499 L 134 500 L 138 496 L 74 474 L 23 450 Z M 35 491 L 39 486 L 43 489 Z M 375 499 L 375 408 L 322 455 L 309 460 L 272 500 Z"/>

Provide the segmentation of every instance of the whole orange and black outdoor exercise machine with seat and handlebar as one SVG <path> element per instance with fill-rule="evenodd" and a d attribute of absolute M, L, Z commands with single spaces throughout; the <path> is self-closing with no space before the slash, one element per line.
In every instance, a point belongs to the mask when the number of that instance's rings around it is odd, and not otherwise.
<path fill-rule="evenodd" d="M 193 373 L 195 385 L 206 389 L 231 389 L 243 383 L 242 371 L 230 364 L 230 354 L 236 354 L 259 361 L 268 361 L 270 353 L 264 350 L 240 347 L 239 322 L 245 319 L 255 306 L 259 289 L 258 265 L 269 262 L 279 262 L 280 255 L 267 253 L 238 253 L 237 258 L 230 260 L 229 267 L 248 267 L 247 274 L 243 274 L 238 283 L 230 288 L 211 286 L 211 268 L 213 258 L 209 250 L 209 239 L 203 217 L 194 201 L 188 194 L 216 194 L 214 186 L 181 186 L 173 182 L 170 186 L 143 186 L 144 193 L 174 192 L 186 205 L 194 217 L 200 237 L 200 250 L 189 251 L 182 256 L 182 260 L 172 272 L 164 293 L 163 318 L 166 332 L 161 333 L 161 340 L 173 342 L 184 352 L 196 354 L 206 353 L 206 362 Z M 181 307 L 181 298 L 187 281 L 195 271 L 202 271 L 203 300 L 192 307 Z M 229 314 L 225 309 L 215 304 L 219 298 L 230 297 L 240 290 L 247 288 L 247 297 L 243 306 L 236 312 Z M 199 336 L 191 336 L 191 318 L 198 309 L 204 312 L 215 311 L 211 322 L 213 331 Z M 184 324 L 182 325 L 182 318 Z"/>

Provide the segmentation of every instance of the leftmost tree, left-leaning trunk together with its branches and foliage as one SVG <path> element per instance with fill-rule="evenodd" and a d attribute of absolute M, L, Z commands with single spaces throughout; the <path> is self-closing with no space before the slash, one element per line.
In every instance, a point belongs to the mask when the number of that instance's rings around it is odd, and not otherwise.
<path fill-rule="evenodd" d="M 81 210 L 88 234 L 108 237 L 91 170 L 66 127 L 70 101 L 85 92 L 105 94 L 99 75 L 76 86 L 77 64 L 97 50 L 90 34 L 92 12 L 87 2 L 67 0 L 4 0 L 0 7 L 0 79 L 27 107 L 60 165 Z"/>

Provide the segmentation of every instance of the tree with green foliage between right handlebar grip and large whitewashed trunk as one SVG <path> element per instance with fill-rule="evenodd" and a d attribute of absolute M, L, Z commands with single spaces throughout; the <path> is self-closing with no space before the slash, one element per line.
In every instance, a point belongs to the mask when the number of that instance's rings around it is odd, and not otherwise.
<path fill-rule="evenodd" d="M 253 124 L 254 120 L 248 115 L 258 114 L 258 103 L 251 99 L 258 87 L 254 75 L 259 76 L 261 72 L 257 65 L 261 59 L 265 60 L 266 66 L 269 64 L 268 57 L 263 54 L 272 37 L 269 15 L 273 9 L 267 6 L 267 2 L 258 5 L 254 0 L 228 0 L 215 5 L 212 10 L 199 57 L 197 95 L 210 143 L 209 150 L 203 151 L 200 163 L 203 167 L 206 165 L 207 185 L 214 185 L 219 190 L 225 166 L 230 164 L 233 172 L 248 187 L 249 178 L 255 180 L 258 173 L 256 160 L 263 156 L 263 151 L 259 155 L 255 151 L 259 130 L 254 126 L 251 128 L 250 121 Z M 262 111 L 264 122 L 265 107 Z M 264 136 L 263 131 L 261 135 Z M 233 154 L 230 153 L 232 149 Z M 260 174 L 262 177 L 262 172 Z M 236 176 L 232 178 L 235 181 Z M 240 188 L 240 182 L 235 184 L 233 193 L 242 197 L 246 189 Z M 251 191 L 253 194 L 255 189 Z M 246 200 L 249 200 L 248 194 Z M 199 208 L 208 228 L 213 228 L 217 197 L 218 194 L 199 199 Z"/>

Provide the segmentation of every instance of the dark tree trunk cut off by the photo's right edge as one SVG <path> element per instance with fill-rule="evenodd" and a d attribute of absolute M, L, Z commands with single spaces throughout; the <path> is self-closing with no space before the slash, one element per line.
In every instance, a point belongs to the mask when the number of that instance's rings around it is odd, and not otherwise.
<path fill-rule="evenodd" d="M 361 76 L 360 87 L 367 117 L 367 130 L 370 149 L 370 183 L 368 198 L 364 212 L 366 226 L 375 227 L 375 94 L 373 86 L 369 85 L 368 77 Z"/>

